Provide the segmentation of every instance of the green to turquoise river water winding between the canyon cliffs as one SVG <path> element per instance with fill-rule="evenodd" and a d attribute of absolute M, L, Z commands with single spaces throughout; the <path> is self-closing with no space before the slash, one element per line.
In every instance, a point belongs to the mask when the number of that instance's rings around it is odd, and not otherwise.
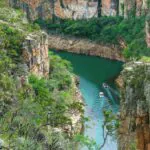
<path fill-rule="evenodd" d="M 74 68 L 74 73 L 80 77 L 80 91 L 85 101 L 85 117 L 90 121 L 85 123 L 84 134 L 93 138 L 97 144 L 102 144 L 103 108 L 118 111 L 119 100 L 114 80 L 122 69 L 122 63 L 99 57 L 77 55 L 68 52 L 56 52 L 63 59 L 69 60 Z M 107 83 L 109 89 L 102 84 Z M 104 92 L 105 97 L 100 98 L 99 92 Z M 108 101 L 109 99 L 109 101 Z M 85 149 L 85 148 L 82 148 Z M 108 138 L 103 150 L 117 150 L 117 143 Z"/>

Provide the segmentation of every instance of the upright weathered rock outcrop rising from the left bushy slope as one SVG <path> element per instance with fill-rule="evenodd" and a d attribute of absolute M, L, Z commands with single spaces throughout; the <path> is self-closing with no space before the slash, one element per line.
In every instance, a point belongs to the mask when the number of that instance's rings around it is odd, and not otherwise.
<path fill-rule="evenodd" d="M 48 76 L 49 57 L 46 33 L 28 35 L 23 43 L 23 59 L 31 73 L 41 77 Z"/>

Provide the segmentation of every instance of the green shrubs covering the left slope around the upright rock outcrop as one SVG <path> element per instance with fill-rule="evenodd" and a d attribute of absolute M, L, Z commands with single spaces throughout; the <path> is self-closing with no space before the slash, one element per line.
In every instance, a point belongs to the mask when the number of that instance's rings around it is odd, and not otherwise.
<path fill-rule="evenodd" d="M 22 23 L 20 10 L 2 8 L 0 12 L 0 147 L 72 147 L 73 135 L 71 131 L 65 132 L 64 127 L 72 127 L 71 113 L 82 113 L 83 109 L 76 96 L 70 63 L 50 53 L 49 77 L 30 74 L 21 57 L 22 42 L 39 27 Z"/>

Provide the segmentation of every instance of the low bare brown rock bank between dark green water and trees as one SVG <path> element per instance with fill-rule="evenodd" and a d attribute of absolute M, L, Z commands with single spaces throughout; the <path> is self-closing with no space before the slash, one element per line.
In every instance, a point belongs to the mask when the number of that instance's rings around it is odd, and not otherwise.
<path fill-rule="evenodd" d="M 124 61 L 121 50 L 119 50 L 119 48 L 113 46 L 104 46 L 87 39 L 76 39 L 73 37 L 49 34 L 48 45 L 50 49 L 64 50 L 77 54 L 100 56 L 104 58 Z"/>

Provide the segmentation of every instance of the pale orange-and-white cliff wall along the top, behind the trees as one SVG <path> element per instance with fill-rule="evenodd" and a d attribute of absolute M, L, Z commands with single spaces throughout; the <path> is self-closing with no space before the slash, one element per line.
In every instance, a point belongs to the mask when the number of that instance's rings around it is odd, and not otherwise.
<path fill-rule="evenodd" d="M 12 7 L 19 7 L 26 12 L 30 20 L 48 19 L 53 14 L 60 18 L 91 18 L 97 16 L 97 1 L 87 0 L 9 0 Z M 148 0 L 102 0 L 103 16 L 116 16 L 118 13 L 125 18 L 135 14 L 147 14 Z"/>

